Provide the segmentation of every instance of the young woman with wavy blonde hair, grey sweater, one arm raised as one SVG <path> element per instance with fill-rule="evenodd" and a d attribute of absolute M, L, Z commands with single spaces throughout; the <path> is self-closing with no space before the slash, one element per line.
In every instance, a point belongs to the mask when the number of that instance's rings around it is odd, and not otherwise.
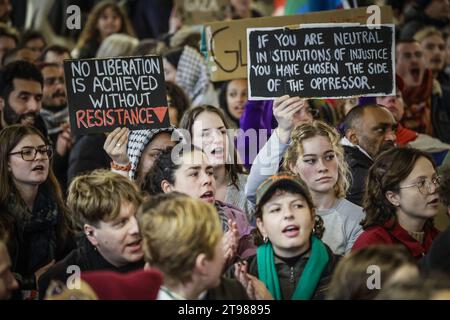
<path fill-rule="evenodd" d="M 285 118 L 279 123 L 289 124 L 289 121 L 292 122 Z M 334 253 L 345 254 L 362 232 L 359 223 L 364 214 L 361 207 L 345 199 L 349 169 L 339 144 L 340 136 L 322 121 L 303 123 L 292 128 L 293 125 L 286 132 L 277 133 L 280 137 L 288 137 L 291 133 L 289 144 L 283 143 L 281 138 L 269 140 L 258 154 L 246 185 L 247 197 L 254 201 L 256 188 L 265 177 L 278 171 L 284 154 L 284 169 L 305 181 L 317 214 L 324 220 L 323 241 Z"/>

